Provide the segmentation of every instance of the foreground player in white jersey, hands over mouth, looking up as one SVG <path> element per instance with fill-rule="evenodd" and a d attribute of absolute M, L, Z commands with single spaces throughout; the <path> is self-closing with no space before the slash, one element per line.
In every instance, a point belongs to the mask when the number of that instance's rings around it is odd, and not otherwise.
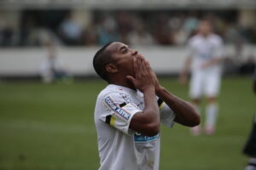
<path fill-rule="evenodd" d="M 96 73 L 108 82 L 96 99 L 100 170 L 157 170 L 160 122 L 193 127 L 195 108 L 162 87 L 148 60 L 122 42 L 96 52 Z"/>

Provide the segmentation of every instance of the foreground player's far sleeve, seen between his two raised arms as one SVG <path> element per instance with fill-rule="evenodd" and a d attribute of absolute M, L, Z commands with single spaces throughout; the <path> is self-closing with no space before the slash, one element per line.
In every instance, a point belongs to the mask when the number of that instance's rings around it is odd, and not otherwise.
<path fill-rule="evenodd" d="M 162 99 L 158 99 L 157 103 L 160 107 L 160 122 L 167 127 L 173 127 L 175 113 Z"/>

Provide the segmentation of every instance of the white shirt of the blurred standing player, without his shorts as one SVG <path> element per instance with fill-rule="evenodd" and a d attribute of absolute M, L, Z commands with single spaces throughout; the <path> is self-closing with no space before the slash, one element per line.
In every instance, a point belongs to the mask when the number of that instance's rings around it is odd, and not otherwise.
<path fill-rule="evenodd" d="M 221 37 L 216 34 L 210 34 L 207 37 L 198 34 L 191 37 L 189 39 L 189 56 L 193 58 L 191 70 L 220 73 L 220 64 L 211 65 L 207 67 L 207 69 L 202 69 L 201 65 L 209 62 L 211 59 L 223 57 L 222 46 L 223 41 Z"/>

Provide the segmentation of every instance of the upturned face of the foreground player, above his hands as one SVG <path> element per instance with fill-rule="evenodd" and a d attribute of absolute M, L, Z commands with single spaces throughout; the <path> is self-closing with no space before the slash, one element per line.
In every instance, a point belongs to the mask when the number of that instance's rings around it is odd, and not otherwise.
<path fill-rule="evenodd" d="M 117 66 L 118 70 L 124 74 L 124 76 L 135 76 L 133 70 L 133 58 L 138 53 L 137 50 L 129 48 L 125 43 L 113 42 L 109 50 L 113 56 L 114 65 Z"/>

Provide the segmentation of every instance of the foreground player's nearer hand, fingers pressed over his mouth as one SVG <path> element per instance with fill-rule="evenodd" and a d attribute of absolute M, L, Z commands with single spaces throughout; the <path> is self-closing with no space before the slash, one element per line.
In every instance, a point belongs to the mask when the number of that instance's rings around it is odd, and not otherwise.
<path fill-rule="evenodd" d="M 133 83 L 135 88 L 139 89 L 141 92 L 147 89 L 154 90 L 154 77 L 150 65 L 142 55 L 138 55 L 133 59 L 133 68 L 135 77 L 127 76 L 126 78 Z"/>

